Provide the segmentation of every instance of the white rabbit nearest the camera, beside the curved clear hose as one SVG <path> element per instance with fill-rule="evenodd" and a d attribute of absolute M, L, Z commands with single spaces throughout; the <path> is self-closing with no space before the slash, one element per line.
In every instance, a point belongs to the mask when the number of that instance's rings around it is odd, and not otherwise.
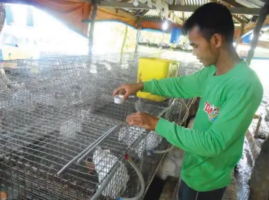
<path fill-rule="evenodd" d="M 103 182 L 104 178 L 110 173 L 112 167 L 115 166 L 119 158 L 112 155 L 109 150 L 102 150 L 99 146 L 94 151 L 94 168 L 98 174 L 99 183 Z M 116 199 L 119 194 L 126 190 L 127 182 L 129 181 L 129 175 L 126 167 L 122 162 L 119 164 L 119 168 L 112 176 L 110 182 L 103 190 L 102 194 L 105 197 Z"/>

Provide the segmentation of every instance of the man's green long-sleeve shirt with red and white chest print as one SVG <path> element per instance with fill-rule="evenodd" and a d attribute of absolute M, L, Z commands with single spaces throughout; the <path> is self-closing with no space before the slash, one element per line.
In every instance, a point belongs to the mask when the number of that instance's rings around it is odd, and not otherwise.
<path fill-rule="evenodd" d="M 200 192 L 229 185 L 263 96 L 259 78 L 245 61 L 224 75 L 215 72 L 210 66 L 189 76 L 144 83 L 144 91 L 155 95 L 201 97 L 193 129 L 163 119 L 156 128 L 157 134 L 185 151 L 181 178 Z"/>

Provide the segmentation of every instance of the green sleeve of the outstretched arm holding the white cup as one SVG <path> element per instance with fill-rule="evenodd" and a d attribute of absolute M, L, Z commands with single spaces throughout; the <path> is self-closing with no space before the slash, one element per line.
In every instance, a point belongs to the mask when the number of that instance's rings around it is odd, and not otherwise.
<path fill-rule="evenodd" d="M 209 67 L 210 68 L 210 67 Z M 193 98 L 201 95 L 203 83 L 209 68 L 203 68 L 192 75 L 144 82 L 144 92 L 170 98 Z"/>

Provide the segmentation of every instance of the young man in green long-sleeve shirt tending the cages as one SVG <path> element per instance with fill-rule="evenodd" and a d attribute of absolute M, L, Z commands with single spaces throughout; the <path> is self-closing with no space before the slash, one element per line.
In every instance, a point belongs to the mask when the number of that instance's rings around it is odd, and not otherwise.
<path fill-rule="evenodd" d="M 114 95 L 122 91 L 124 100 L 137 91 L 170 98 L 200 96 L 193 129 L 145 113 L 131 114 L 126 121 L 155 130 L 185 151 L 178 194 L 181 200 L 220 200 L 242 156 L 245 132 L 261 103 L 263 87 L 235 52 L 233 18 L 225 6 L 201 6 L 184 23 L 183 33 L 205 68 L 185 77 L 124 84 Z"/>

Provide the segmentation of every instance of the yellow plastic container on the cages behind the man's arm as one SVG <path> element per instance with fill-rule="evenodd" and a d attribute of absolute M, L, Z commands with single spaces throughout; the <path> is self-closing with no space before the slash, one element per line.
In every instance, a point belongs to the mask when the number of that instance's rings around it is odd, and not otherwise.
<path fill-rule="evenodd" d="M 138 83 L 147 82 L 151 79 L 164 79 L 178 75 L 179 63 L 164 59 L 140 58 L 138 61 Z M 159 95 L 140 92 L 136 93 L 139 98 L 161 102 L 166 98 Z"/>

